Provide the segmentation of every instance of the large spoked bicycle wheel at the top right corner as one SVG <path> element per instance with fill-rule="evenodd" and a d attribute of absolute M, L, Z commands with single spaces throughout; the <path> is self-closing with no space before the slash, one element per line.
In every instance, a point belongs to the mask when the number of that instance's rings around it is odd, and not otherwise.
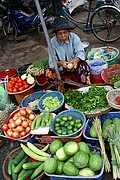
<path fill-rule="evenodd" d="M 90 26 L 100 41 L 117 41 L 120 38 L 120 10 L 109 5 L 98 8 L 91 16 Z"/>

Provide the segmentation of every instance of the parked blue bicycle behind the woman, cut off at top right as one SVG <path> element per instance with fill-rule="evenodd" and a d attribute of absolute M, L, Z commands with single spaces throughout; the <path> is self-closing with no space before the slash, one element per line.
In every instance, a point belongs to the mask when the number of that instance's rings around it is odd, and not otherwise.
<path fill-rule="evenodd" d="M 86 22 L 82 22 L 72 17 L 69 10 L 60 3 L 61 1 L 53 0 L 52 2 L 54 14 L 66 18 L 74 24 L 74 28 L 78 27 L 85 33 L 93 33 L 98 40 L 105 43 L 115 42 L 120 39 L 120 9 L 116 6 L 107 4 L 97 9 L 91 8 L 94 0 L 88 0 L 87 19 Z"/>

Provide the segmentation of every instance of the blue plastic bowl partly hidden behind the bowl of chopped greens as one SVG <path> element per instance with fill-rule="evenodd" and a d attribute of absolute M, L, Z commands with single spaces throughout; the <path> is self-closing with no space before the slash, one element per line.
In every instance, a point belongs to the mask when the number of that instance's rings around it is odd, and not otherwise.
<path fill-rule="evenodd" d="M 44 94 L 46 94 L 46 92 L 38 91 L 25 96 L 24 99 L 21 101 L 21 107 L 28 107 L 30 102 L 34 101 L 35 99 L 40 99 Z M 39 109 L 35 108 L 32 110 L 38 111 Z"/>

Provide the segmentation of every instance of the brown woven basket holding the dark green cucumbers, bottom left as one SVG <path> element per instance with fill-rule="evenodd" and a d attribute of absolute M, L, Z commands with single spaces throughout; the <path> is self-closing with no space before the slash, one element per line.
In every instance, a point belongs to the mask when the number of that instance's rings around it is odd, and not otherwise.
<path fill-rule="evenodd" d="M 39 148 L 43 148 L 44 145 L 42 144 L 35 144 L 36 146 L 38 146 Z M 12 177 L 8 175 L 8 162 L 10 159 L 14 158 L 21 150 L 21 147 L 18 147 L 14 150 L 12 150 L 7 157 L 5 158 L 4 162 L 3 162 L 3 167 L 2 167 L 2 171 L 3 171 L 3 176 L 6 180 L 12 180 Z M 42 177 L 44 176 L 44 172 L 42 172 L 37 178 L 35 178 L 34 180 L 40 180 Z"/>

